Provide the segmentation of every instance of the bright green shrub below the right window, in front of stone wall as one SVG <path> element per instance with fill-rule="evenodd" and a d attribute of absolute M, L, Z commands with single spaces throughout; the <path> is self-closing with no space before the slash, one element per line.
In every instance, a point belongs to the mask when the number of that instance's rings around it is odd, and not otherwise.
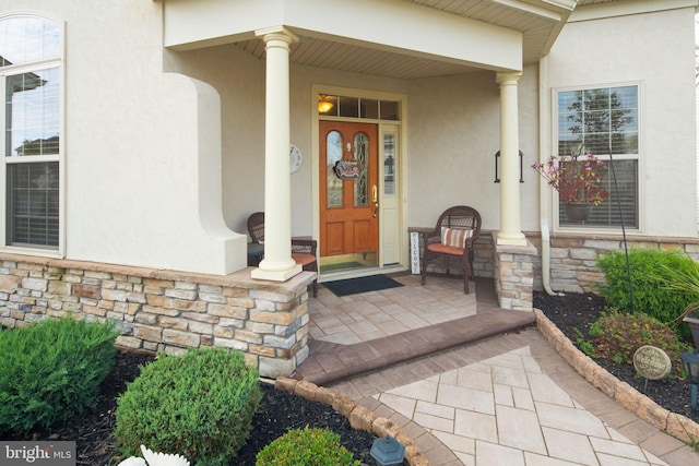
<path fill-rule="evenodd" d="M 638 249 L 629 251 L 629 268 L 633 307 L 629 299 L 629 278 L 626 255 L 615 251 L 597 258 L 597 266 L 604 272 L 605 284 L 600 285 L 600 292 L 607 303 L 621 311 L 644 312 L 663 323 L 671 324 L 692 301 L 696 295 L 680 294 L 662 284 L 670 280 L 668 271 L 687 271 L 697 273 L 697 264 L 687 255 L 672 251 Z M 689 335 L 688 328 L 682 330 Z"/>

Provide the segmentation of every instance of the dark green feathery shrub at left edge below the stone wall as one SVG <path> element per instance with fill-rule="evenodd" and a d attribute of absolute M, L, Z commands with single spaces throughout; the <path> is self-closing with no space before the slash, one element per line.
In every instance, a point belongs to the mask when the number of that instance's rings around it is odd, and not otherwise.
<path fill-rule="evenodd" d="M 48 427 L 94 406 L 117 335 L 112 323 L 73 319 L 0 332 L 0 431 Z"/>

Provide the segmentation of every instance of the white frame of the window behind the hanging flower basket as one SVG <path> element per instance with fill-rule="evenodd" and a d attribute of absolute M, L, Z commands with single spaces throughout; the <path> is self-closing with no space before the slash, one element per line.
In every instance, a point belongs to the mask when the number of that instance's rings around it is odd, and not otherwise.
<path fill-rule="evenodd" d="M 603 83 L 588 86 L 566 86 L 566 87 L 556 87 L 552 89 L 552 127 L 553 127 L 553 141 L 552 147 L 554 148 L 554 154 L 558 155 L 558 94 L 564 92 L 571 91 L 589 91 L 589 89 L 600 89 L 600 88 L 615 88 L 615 87 L 628 87 L 636 86 L 638 88 L 638 153 L 637 154 L 616 154 L 613 155 L 614 160 L 636 160 L 637 162 L 637 225 L 629 225 L 627 222 L 624 223 L 624 229 L 626 232 L 631 234 L 642 234 L 642 225 L 643 225 L 643 134 L 644 134 L 644 126 L 643 126 L 643 85 L 640 81 L 631 81 L 631 82 L 616 82 L 616 83 Z M 569 154 L 564 154 L 569 155 Z M 601 158 L 608 166 L 609 155 L 608 154 L 594 154 L 599 158 Z M 606 175 L 607 177 L 612 177 L 612 169 Z M 618 226 L 609 226 L 604 227 L 600 225 L 561 225 L 560 223 L 560 210 L 558 192 L 554 189 L 552 191 L 552 202 L 550 202 L 550 214 L 554 220 L 554 231 L 557 232 L 584 232 L 584 234 L 600 234 L 600 235 L 617 235 L 621 232 L 621 225 Z M 616 195 L 615 193 L 612 193 Z"/>

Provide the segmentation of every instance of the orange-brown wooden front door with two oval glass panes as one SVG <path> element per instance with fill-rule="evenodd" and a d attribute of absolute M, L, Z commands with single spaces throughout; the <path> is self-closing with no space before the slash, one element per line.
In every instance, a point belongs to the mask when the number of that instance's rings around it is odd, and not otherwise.
<path fill-rule="evenodd" d="M 379 248 L 377 126 L 320 122 L 320 255 Z"/>

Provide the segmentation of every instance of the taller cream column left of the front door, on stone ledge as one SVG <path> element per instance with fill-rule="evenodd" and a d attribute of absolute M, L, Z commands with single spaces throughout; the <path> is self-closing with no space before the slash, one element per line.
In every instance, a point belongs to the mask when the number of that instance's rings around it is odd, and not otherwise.
<path fill-rule="evenodd" d="M 264 259 L 252 278 L 285 282 L 301 266 L 292 259 L 289 172 L 289 44 L 298 37 L 283 26 L 256 31 L 266 51 L 264 123 Z"/>

